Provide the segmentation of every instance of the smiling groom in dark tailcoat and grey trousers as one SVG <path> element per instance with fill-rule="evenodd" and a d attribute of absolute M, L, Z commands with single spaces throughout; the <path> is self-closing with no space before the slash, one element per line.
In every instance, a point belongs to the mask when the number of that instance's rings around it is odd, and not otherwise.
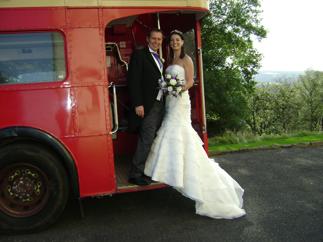
<path fill-rule="evenodd" d="M 132 53 L 128 67 L 128 87 L 131 110 L 128 132 L 139 130 L 138 146 L 132 161 L 129 182 L 136 185 L 149 185 L 143 179 L 145 164 L 152 147 L 155 134 L 161 125 L 164 114 L 164 101 L 161 99 L 158 80 L 164 74 L 157 51 L 161 47 L 163 32 L 153 28 L 148 32 L 148 46 Z"/>

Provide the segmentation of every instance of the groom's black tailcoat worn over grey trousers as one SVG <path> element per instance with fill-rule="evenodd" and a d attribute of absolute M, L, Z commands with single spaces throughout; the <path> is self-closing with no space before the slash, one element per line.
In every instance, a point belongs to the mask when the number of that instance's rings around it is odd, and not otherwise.
<path fill-rule="evenodd" d="M 158 80 L 160 78 L 161 71 L 148 46 L 132 53 L 128 67 L 128 87 L 131 100 L 128 132 L 136 132 L 138 126 L 152 109 L 158 96 Z M 136 115 L 135 108 L 138 106 L 144 106 L 144 118 Z"/>

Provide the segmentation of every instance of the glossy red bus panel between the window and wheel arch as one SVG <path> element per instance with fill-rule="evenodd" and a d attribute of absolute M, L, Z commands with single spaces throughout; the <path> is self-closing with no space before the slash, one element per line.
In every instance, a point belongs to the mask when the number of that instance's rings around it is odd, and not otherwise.
<path fill-rule="evenodd" d="M 70 88 L 1 92 L 0 103 L 0 128 L 32 126 L 56 137 L 74 134 Z"/>

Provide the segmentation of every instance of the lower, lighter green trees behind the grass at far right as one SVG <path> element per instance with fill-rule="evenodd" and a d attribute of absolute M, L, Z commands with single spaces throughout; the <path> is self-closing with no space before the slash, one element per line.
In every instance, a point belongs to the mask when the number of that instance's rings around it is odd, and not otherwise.
<path fill-rule="evenodd" d="M 246 120 L 255 135 L 323 130 L 323 71 L 305 70 L 296 81 L 280 80 L 249 94 Z"/>

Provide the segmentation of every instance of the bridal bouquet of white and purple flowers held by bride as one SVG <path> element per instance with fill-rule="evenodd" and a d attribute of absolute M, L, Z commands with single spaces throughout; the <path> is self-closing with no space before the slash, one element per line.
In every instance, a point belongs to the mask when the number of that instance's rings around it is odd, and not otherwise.
<path fill-rule="evenodd" d="M 169 97 L 182 97 L 183 89 L 185 88 L 184 80 L 179 80 L 177 75 L 167 74 L 163 80 L 158 80 L 159 87 L 161 89 L 163 96 Z"/>

